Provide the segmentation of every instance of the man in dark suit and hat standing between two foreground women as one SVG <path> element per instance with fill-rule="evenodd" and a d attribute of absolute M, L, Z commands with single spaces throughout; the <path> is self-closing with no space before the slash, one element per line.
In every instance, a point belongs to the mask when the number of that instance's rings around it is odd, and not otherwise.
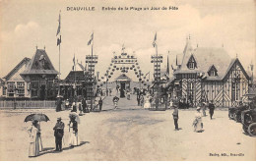
<path fill-rule="evenodd" d="M 64 136 L 64 127 L 65 127 L 65 124 L 61 122 L 61 118 L 58 118 L 57 123 L 53 128 L 55 143 L 56 143 L 55 151 L 62 151 L 62 137 Z"/>

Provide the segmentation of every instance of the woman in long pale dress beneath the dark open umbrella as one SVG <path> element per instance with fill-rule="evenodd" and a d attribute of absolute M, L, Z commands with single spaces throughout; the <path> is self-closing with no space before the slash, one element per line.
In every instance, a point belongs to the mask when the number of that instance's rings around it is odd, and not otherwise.
<path fill-rule="evenodd" d="M 37 121 L 32 122 L 32 127 L 28 129 L 30 134 L 29 157 L 39 155 L 39 131 L 36 128 Z"/>

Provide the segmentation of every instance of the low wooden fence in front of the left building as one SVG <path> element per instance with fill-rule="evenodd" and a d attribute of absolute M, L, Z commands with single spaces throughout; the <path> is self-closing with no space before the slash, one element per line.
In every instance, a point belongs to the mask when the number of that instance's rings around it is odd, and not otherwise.
<path fill-rule="evenodd" d="M 55 108 L 56 101 L 47 101 L 47 100 L 17 100 L 17 101 L 0 101 L 0 109 L 46 109 L 46 108 Z"/>

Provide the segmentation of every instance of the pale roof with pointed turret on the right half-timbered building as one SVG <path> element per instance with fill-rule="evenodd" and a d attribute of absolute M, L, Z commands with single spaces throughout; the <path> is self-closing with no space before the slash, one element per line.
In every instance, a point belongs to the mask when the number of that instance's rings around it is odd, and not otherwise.
<path fill-rule="evenodd" d="M 204 73 L 208 80 L 222 80 L 229 70 L 228 68 L 232 65 L 232 60 L 224 50 L 224 48 L 207 48 L 207 47 L 197 47 L 193 49 L 190 44 L 190 40 L 184 49 L 183 59 L 180 69 L 175 71 L 174 74 L 186 74 L 186 73 Z M 194 70 L 190 70 L 187 67 L 187 63 L 191 57 L 195 58 L 197 67 Z M 212 66 L 218 71 L 217 77 L 209 77 L 207 71 Z"/>

